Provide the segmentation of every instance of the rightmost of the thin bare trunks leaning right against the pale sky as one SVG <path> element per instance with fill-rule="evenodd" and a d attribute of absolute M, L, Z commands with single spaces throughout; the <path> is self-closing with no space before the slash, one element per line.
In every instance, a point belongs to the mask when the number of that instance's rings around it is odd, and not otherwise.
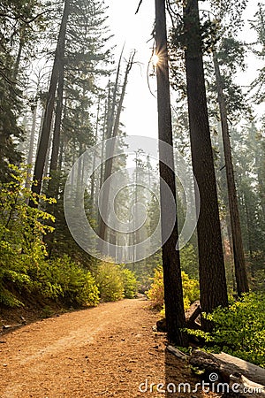
<path fill-rule="evenodd" d="M 118 132 L 118 126 L 120 123 L 120 115 L 121 115 L 121 111 L 123 108 L 123 103 L 124 103 L 124 99 L 125 99 L 125 90 L 126 90 L 126 86 L 127 86 L 127 81 L 128 81 L 128 76 L 129 73 L 132 69 L 133 66 L 133 57 L 134 57 L 134 52 L 133 55 L 131 55 L 127 66 L 126 66 L 126 71 L 125 71 L 125 80 L 124 80 L 124 84 L 123 84 L 123 88 L 122 88 L 122 92 L 119 98 L 119 102 L 117 105 L 117 114 L 116 114 L 116 118 L 115 118 L 115 123 L 113 126 L 113 130 L 112 130 L 112 134 L 111 134 L 111 138 L 116 138 L 117 137 L 117 132 Z M 106 155 L 108 157 L 108 159 L 105 162 L 105 171 L 104 171 L 104 178 L 103 178 L 103 183 L 108 180 L 108 178 L 111 175 L 112 172 L 112 164 L 113 164 L 113 153 L 114 153 L 114 147 L 115 147 L 115 141 L 111 141 L 111 142 L 107 142 L 106 145 Z M 104 222 L 104 220 L 107 219 L 108 217 L 108 209 L 109 209 L 109 196 L 110 196 L 110 187 L 107 186 L 105 188 L 105 195 L 102 198 L 102 217 L 99 217 L 99 236 L 102 238 L 103 241 L 106 240 L 106 230 L 107 230 L 107 225 Z"/>

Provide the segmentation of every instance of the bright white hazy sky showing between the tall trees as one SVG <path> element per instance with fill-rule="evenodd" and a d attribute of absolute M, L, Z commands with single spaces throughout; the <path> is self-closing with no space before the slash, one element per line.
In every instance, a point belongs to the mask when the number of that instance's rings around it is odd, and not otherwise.
<path fill-rule="evenodd" d="M 125 58 L 130 51 L 135 49 L 135 60 L 140 65 L 133 65 L 129 75 L 127 94 L 125 96 L 125 111 L 121 121 L 125 125 L 126 134 L 138 134 L 157 137 L 157 113 L 156 99 L 148 88 L 148 61 L 151 57 L 153 40 L 151 34 L 155 19 L 155 0 L 143 0 L 140 11 L 135 11 L 140 0 L 105 0 L 109 6 L 110 31 L 115 34 L 114 42 L 117 44 L 116 58 L 125 42 Z M 244 19 L 246 27 L 240 33 L 240 39 L 250 42 L 254 40 L 253 31 L 249 29 L 248 19 L 253 19 L 260 0 L 250 0 Z M 248 57 L 249 68 L 246 73 L 240 75 L 242 84 L 249 84 L 256 75 L 257 60 L 253 55 Z M 155 77 L 149 78 L 151 91 L 155 94 Z"/>

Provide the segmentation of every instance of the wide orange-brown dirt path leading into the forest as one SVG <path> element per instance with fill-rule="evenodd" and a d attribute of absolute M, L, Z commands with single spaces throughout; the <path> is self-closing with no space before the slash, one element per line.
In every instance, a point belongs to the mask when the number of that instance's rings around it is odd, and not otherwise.
<path fill-rule="evenodd" d="M 157 318 L 147 301 L 123 300 L 2 334 L 0 397 L 205 396 L 192 391 L 200 379 L 165 349 L 164 333 L 153 332 Z M 159 392 L 170 382 L 177 389 L 179 383 L 190 383 L 191 391 Z M 163 387 L 157 391 L 159 383 Z"/>

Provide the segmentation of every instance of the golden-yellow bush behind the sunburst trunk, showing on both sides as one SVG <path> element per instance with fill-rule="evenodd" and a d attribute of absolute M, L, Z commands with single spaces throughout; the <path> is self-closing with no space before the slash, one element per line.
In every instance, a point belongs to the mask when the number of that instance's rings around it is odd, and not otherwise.
<path fill-rule="evenodd" d="M 199 283 L 196 279 L 189 278 L 186 272 L 181 272 L 184 308 L 187 310 L 192 302 L 199 299 Z M 155 269 L 155 276 L 151 288 L 147 292 L 152 307 L 156 310 L 163 309 L 163 268 L 158 266 Z"/>

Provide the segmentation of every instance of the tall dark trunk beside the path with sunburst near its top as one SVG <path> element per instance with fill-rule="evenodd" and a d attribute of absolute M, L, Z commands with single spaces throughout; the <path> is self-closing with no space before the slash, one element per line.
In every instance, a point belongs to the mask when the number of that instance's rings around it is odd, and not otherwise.
<path fill-rule="evenodd" d="M 155 42 L 156 55 L 159 57 L 159 61 L 156 65 L 158 135 L 161 141 L 170 145 L 170 153 L 167 153 L 167 158 L 170 160 L 170 164 L 174 165 L 165 0 L 155 0 Z M 162 159 L 161 145 L 159 145 L 159 156 L 160 159 Z M 159 162 L 159 171 L 160 177 L 170 188 L 177 205 L 175 172 L 165 165 L 163 160 L 160 160 Z M 166 198 L 163 195 L 162 188 L 160 189 L 160 201 L 162 240 L 164 241 L 168 203 L 166 203 Z M 163 243 L 162 248 L 164 303 L 168 339 L 177 345 L 184 346 L 186 345 L 186 336 L 181 329 L 185 327 L 185 312 L 179 250 L 176 249 L 177 242 L 178 219 L 176 211 L 176 220 L 173 231 L 170 234 L 169 239 Z"/>

